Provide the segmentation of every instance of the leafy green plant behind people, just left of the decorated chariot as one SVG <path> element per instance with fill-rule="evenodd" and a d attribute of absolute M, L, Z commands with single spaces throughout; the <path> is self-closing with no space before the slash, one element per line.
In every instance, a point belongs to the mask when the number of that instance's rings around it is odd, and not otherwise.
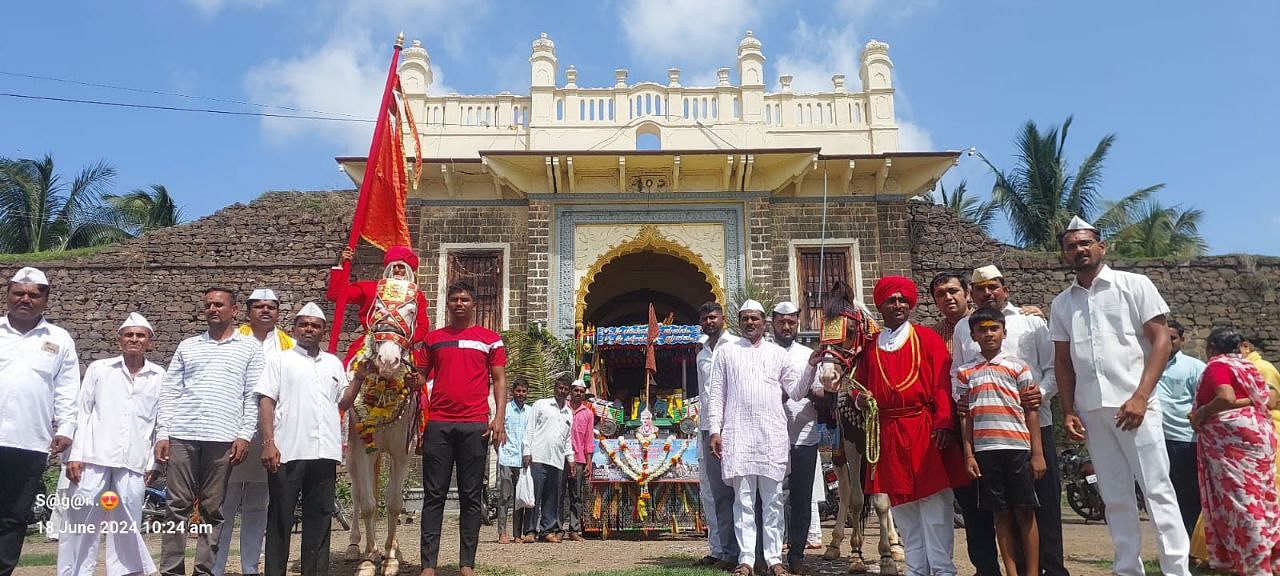
<path fill-rule="evenodd" d="M 530 401 L 550 398 L 556 379 L 573 374 L 573 340 L 561 340 L 539 324 L 502 333 L 507 348 L 507 385 L 529 383 Z"/>

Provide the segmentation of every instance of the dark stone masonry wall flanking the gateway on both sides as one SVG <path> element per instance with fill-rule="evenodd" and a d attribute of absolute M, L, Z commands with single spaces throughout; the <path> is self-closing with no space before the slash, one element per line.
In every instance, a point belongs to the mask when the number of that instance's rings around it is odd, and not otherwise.
<path fill-rule="evenodd" d="M 899 273 L 910 260 L 910 271 L 920 284 L 922 298 L 916 316 L 925 323 L 937 319 L 932 298 L 924 292 L 928 280 L 942 270 L 968 274 L 974 266 L 996 264 L 1010 280 L 1012 301 L 1020 305 L 1047 307 L 1053 296 L 1070 282 L 1070 271 L 1057 255 L 1023 252 L 982 234 L 970 223 L 957 219 L 940 206 L 906 202 L 878 206 L 876 215 L 864 209 L 844 207 L 847 218 L 831 218 L 835 229 L 847 227 L 846 236 L 878 236 L 878 246 L 863 246 L 864 273 L 867 261 L 879 256 L 879 270 Z M 808 234 L 797 220 L 812 210 L 805 206 L 772 206 L 777 224 L 786 224 L 786 234 L 771 238 L 765 246 L 773 266 L 786 266 L 778 250 L 786 238 Z M 156 326 L 156 346 L 151 358 L 166 364 L 183 338 L 204 330 L 200 301 L 210 285 L 237 289 L 246 298 L 253 288 L 271 287 L 283 300 L 282 324 L 303 302 L 320 302 L 325 314 L 333 305 L 324 300 L 329 268 L 346 243 L 355 209 L 355 192 L 268 192 L 248 205 L 237 204 L 200 220 L 157 230 L 97 253 L 60 261 L 38 262 L 54 284 L 47 316 L 68 329 L 76 338 L 81 361 L 114 356 L 118 352 L 116 328 L 131 311 L 141 311 Z M 840 209 L 837 209 L 838 211 Z M 902 214 L 905 211 L 905 214 Z M 545 315 L 545 288 L 536 285 L 544 278 L 545 239 L 532 237 L 522 216 L 545 218 L 531 205 L 509 211 L 479 210 L 467 212 L 486 223 L 512 243 L 512 328 L 522 325 L 522 315 Z M 438 242 L 430 233 L 440 223 L 439 214 L 416 214 L 417 246 L 424 268 L 438 259 Z M 874 218 L 872 228 L 868 218 Z M 828 224 L 831 224 L 829 221 Z M 461 224 L 461 223 L 460 223 Z M 791 229 L 791 225 L 796 229 Z M 906 238 L 901 239 L 900 227 Z M 835 232 L 828 229 L 828 234 Z M 527 238 L 527 239 L 526 239 Z M 899 242 L 906 246 L 900 247 Z M 527 260 L 526 260 L 527 259 Z M 381 271 L 381 252 L 362 247 L 356 256 L 356 275 L 372 278 Z M 1276 287 L 1280 287 L 1280 257 L 1210 256 L 1196 260 L 1115 261 L 1115 268 L 1147 274 L 1169 301 L 1175 319 L 1189 329 L 1187 351 L 1199 355 L 1203 338 L 1216 325 L 1233 325 L 1257 334 L 1275 357 L 1280 352 Z M 13 275 L 22 264 L 0 266 L 4 278 Z M 426 282 L 434 270 L 424 270 Z M 905 270 L 902 270 L 905 271 Z M 529 291 L 521 292 L 521 276 L 529 276 Z M 772 270 L 768 280 L 777 283 L 786 270 Z M 876 278 L 864 278 L 874 284 Z M 434 285 L 424 287 L 434 302 Z M 781 293 L 783 287 L 774 287 Z M 869 287 L 867 293 L 870 293 Z M 349 340 L 357 321 L 348 310 L 344 334 Z M 244 315 L 242 312 L 241 317 Z M 332 317 L 332 316 L 330 316 Z"/>

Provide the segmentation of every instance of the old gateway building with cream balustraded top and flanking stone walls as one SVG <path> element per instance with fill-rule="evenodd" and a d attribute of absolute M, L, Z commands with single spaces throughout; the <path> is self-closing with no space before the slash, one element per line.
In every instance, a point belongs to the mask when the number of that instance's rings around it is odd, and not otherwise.
<path fill-rule="evenodd" d="M 580 88 L 572 68 L 557 86 L 549 38 L 534 42 L 527 96 L 426 96 L 426 52 L 412 46 L 403 60 L 428 156 L 407 212 L 420 282 L 435 294 L 435 325 L 440 292 L 456 278 L 479 287 L 485 324 L 541 323 L 561 335 L 584 321 L 644 321 L 650 301 L 659 315 L 690 323 L 703 301 L 732 296 L 746 282 L 808 308 L 819 248 L 828 283 L 847 278 L 864 301 L 883 274 L 914 278 L 922 284 L 916 316 L 925 321 L 936 310 L 923 285 L 938 271 L 997 264 L 1015 302 L 1042 307 L 1070 282 L 1056 255 L 1001 244 L 910 200 L 957 154 L 896 152 L 892 64 L 881 42 L 863 51 L 861 91 L 835 76 L 832 91 L 817 95 L 791 92 L 787 77 L 782 91 L 767 93 L 764 55 L 750 35 L 739 49 L 739 83 L 722 69 L 714 87 L 684 87 L 678 70 L 667 84 L 628 84 L 617 70 L 614 87 Z M 360 180 L 364 159 L 339 163 Z M 355 200 L 352 191 L 270 192 L 88 256 L 29 262 L 4 255 L 0 273 L 8 278 L 27 264 L 49 273 L 49 316 L 76 337 L 84 364 L 118 353 L 116 326 L 131 311 L 155 324 L 152 358 L 164 364 L 182 338 L 204 329 L 206 287 L 242 297 L 273 287 L 282 319 L 323 301 Z M 360 278 L 381 270 L 374 248 L 356 260 Z M 1234 325 L 1276 360 L 1280 259 L 1112 265 L 1152 278 L 1189 330 L 1187 352 L 1199 355 L 1212 326 Z M 353 316 L 346 316 L 346 339 Z"/>

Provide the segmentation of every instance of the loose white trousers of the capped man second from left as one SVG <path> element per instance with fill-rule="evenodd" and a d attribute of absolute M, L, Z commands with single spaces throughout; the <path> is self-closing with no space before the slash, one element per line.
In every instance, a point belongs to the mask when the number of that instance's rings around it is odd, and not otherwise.
<path fill-rule="evenodd" d="M 84 465 L 79 484 L 72 484 L 72 502 L 91 502 L 63 512 L 68 530 L 58 541 L 59 576 L 92 576 L 97 563 L 97 541 L 106 538 L 106 575 L 152 573 L 156 564 L 142 540 L 143 476 L 128 468 Z M 104 490 L 120 497 L 115 509 L 99 504 Z"/>

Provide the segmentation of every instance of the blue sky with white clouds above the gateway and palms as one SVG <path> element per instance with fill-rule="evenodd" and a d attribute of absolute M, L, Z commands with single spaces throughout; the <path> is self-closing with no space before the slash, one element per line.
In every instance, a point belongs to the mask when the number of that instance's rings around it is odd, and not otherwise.
<path fill-rule="evenodd" d="M 746 29 L 764 42 L 767 77 L 823 90 L 856 86 L 867 40 L 890 44 L 905 146 L 977 147 L 1012 164 L 1028 119 L 1075 116 L 1079 160 L 1116 133 L 1106 196 L 1164 182 L 1166 205 L 1206 211 L 1213 253 L 1280 255 L 1280 3 L 837 0 L 152 0 L 8 6 L 0 92 L 134 104 L 369 118 L 390 44 L 404 31 L 431 55 L 433 92 L 527 92 L 530 42 L 556 41 L 581 86 L 713 83 Z M 18 26 L 20 23 L 20 26 Z M 120 91 L 35 74 L 201 99 Z M 559 79 L 563 83 L 563 78 Z M 106 160 L 127 192 L 165 184 L 188 216 L 268 189 L 348 188 L 334 156 L 364 155 L 370 124 L 269 120 L 0 97 L 0 156 L 55 157 L 68 178 Z M 943 180 L 988 193 L 963 157 Z M 1007 228 L 997 236 L 1009 238 Z"/>

